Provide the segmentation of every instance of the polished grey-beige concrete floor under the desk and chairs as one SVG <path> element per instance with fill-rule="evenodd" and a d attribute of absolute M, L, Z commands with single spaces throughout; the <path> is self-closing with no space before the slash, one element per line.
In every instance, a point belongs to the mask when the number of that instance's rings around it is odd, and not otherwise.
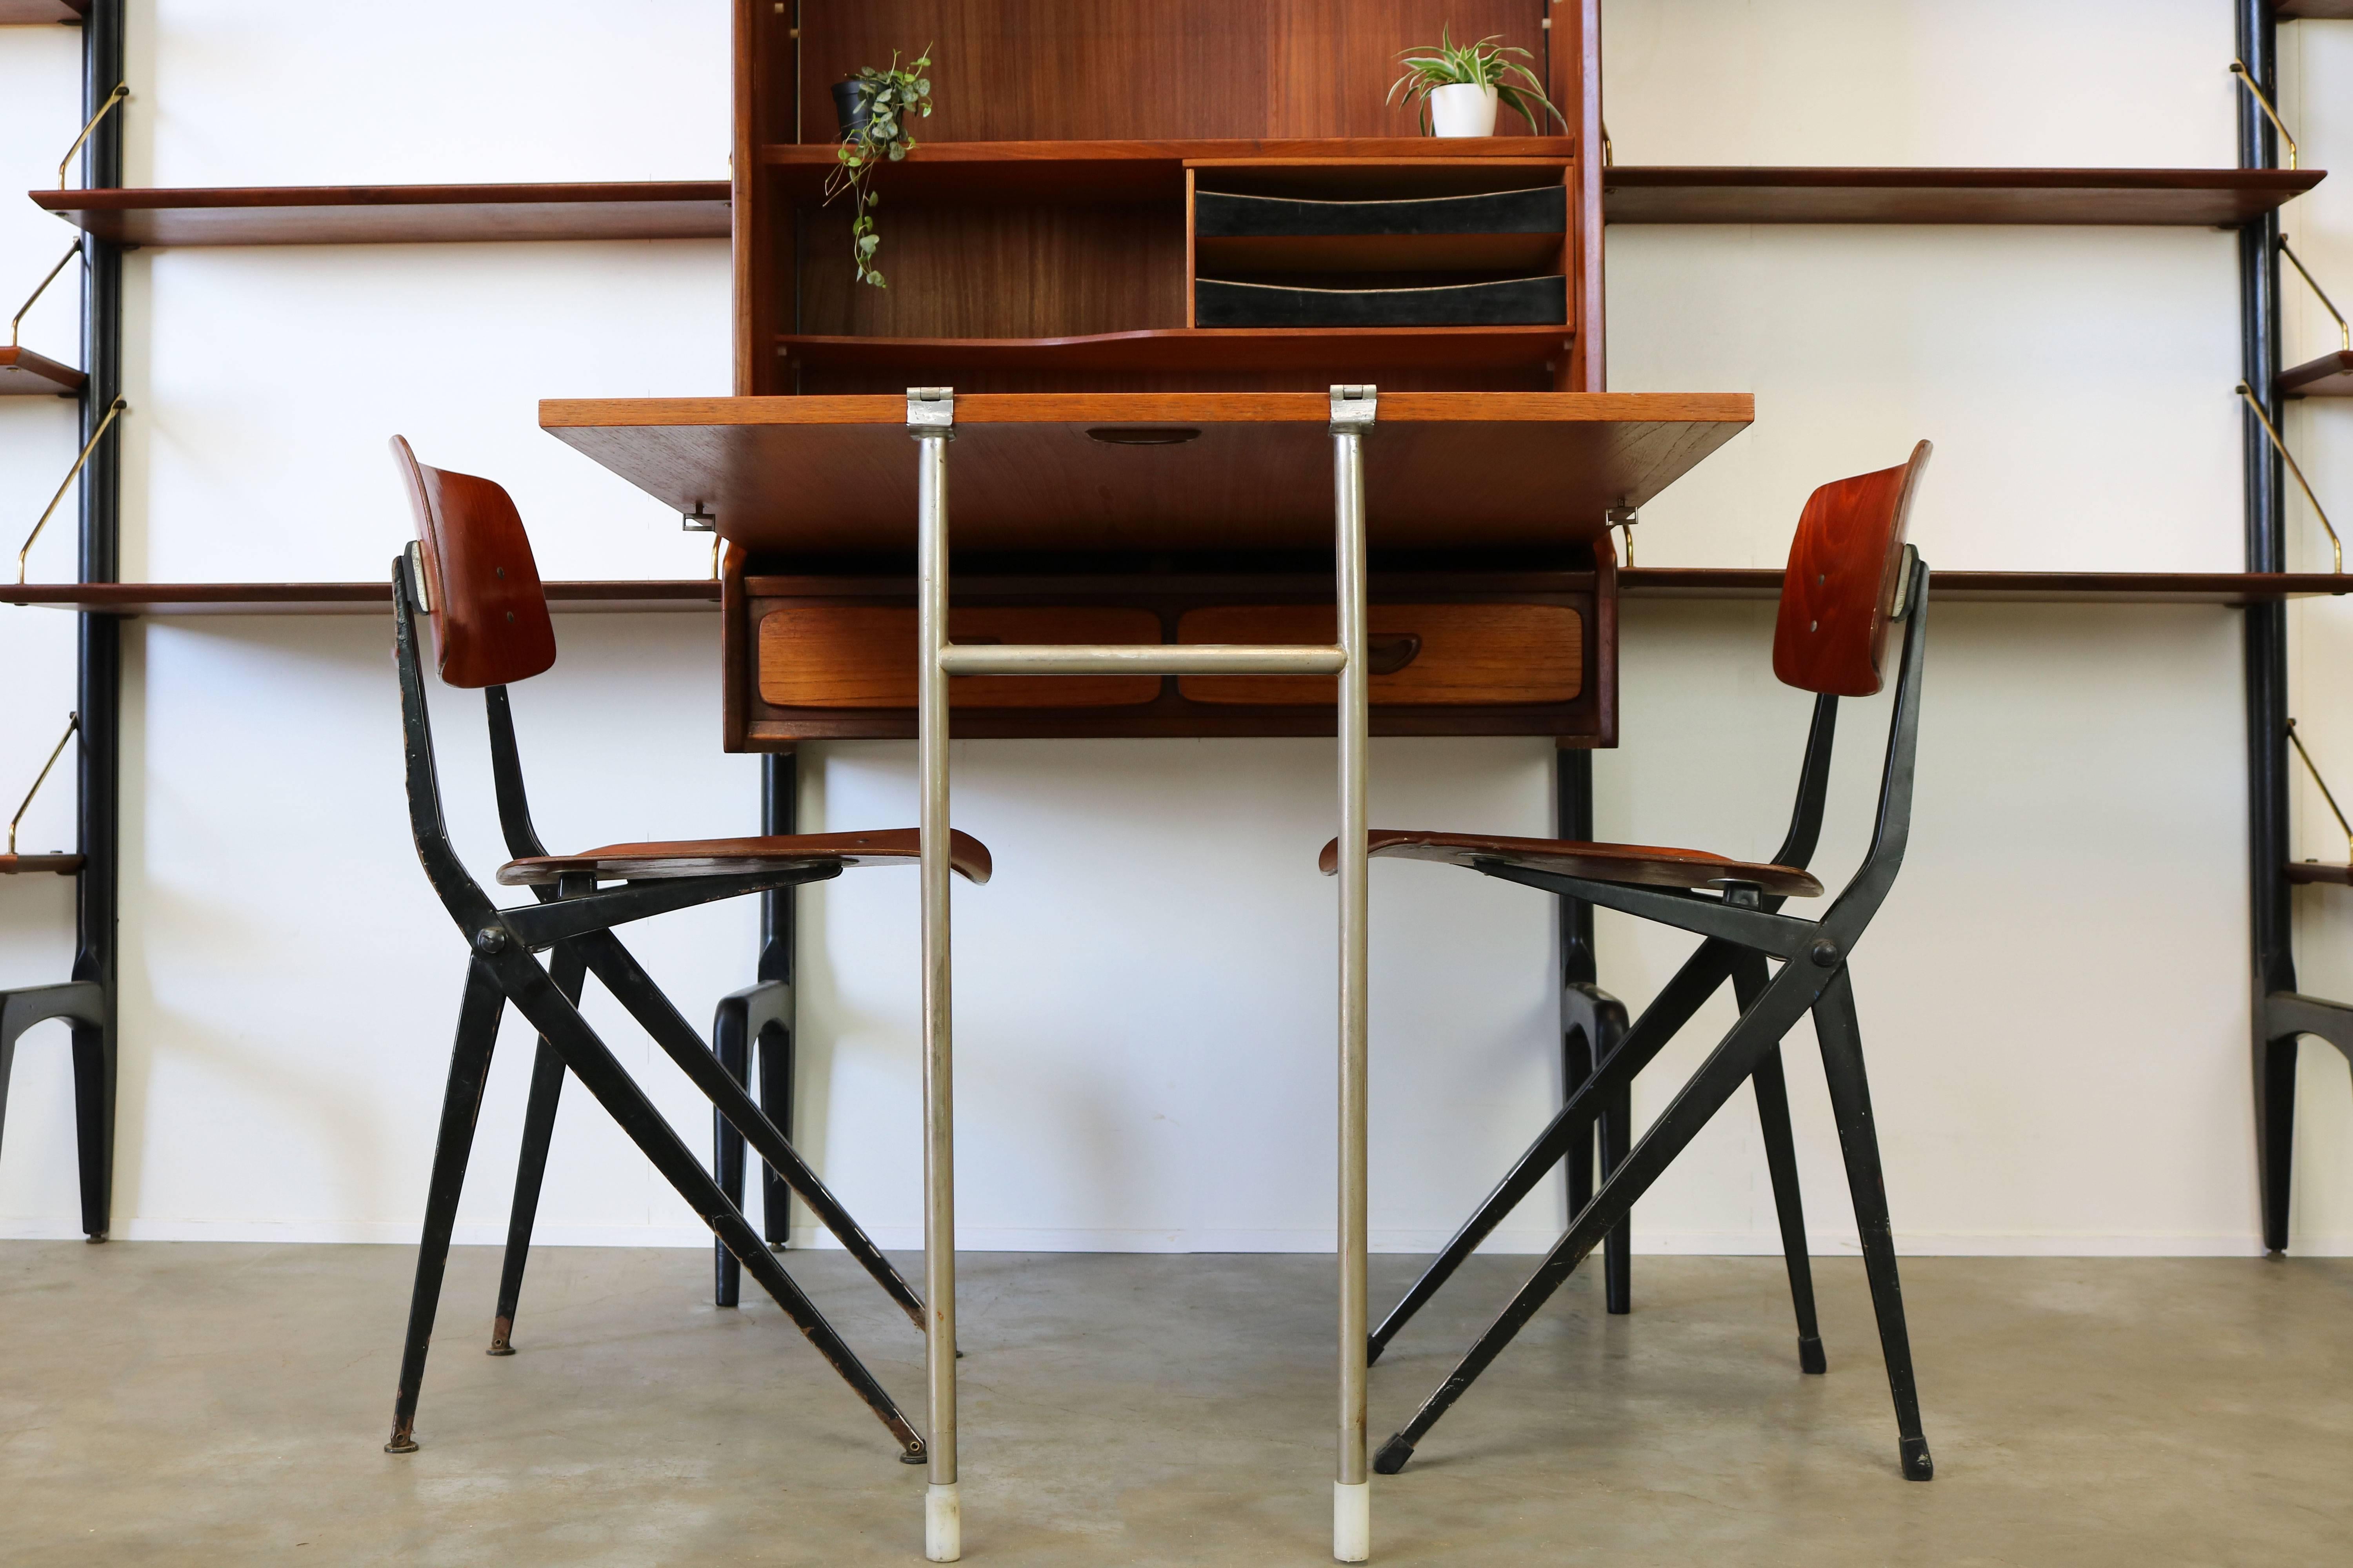
<path fill-rule="evenodd" d="M 685 1251 L 534 1255 L 513 1359 L 459 1248 L 419 1439 L 381 1453 L 414 1253 L 0 1244 L 0 1561 L 918 1563 L 922 1472 L 765 1300 Z M 1374 1302 L 1412 1276 L 1374 1260 Z M 1527 1260 L 1374 1368 L 1386 1436 Z M 911 1408 L 920 1347 L 840 1253 L 788 1265 Z M 1320 1563 L 1325 1258 L 962 1265 L 965 1559 Z M 2353 1554 L 2353 1262 L 1904 1265 L 1937 1479 L 1852 1260 L 1826 1378 L 1769 1258 L 1577 1279 L 1374 1479 L 1379 1563 L 2325 1563 Z M 911 1269 L 913 1274 L 913 1269 Z M 920 1420 L 920 1415 L 918 1415 Z"/>

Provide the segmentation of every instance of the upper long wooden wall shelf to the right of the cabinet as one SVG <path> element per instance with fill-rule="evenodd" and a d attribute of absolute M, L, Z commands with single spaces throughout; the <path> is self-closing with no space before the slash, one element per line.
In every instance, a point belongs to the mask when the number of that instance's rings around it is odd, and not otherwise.
<path fill-rule="evenodd" d="M 2238 226 L 2322 169 L 1605 169 L 1612 223 Z"/>

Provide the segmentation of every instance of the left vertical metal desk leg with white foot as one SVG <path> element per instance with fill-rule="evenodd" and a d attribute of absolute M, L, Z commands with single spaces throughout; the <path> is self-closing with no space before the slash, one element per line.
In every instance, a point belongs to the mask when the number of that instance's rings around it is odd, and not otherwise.
<path fill-rule="evenodd" d="M 927 1434 L 929 1488 L 922 1505 L 922 1554 L 934 1563 L 962 1556 L 955 1500 L 955 1093 L 948 1006 L 948 440 L 953 402 L 939 390 L 908 393 L 915 435 L 918 635 L 922 642 L 915 733 L 922 778 L 922 1300 L 925 1382 L 932 1396 Z M 936 402 L 936 409 L 925 409 Z"/>

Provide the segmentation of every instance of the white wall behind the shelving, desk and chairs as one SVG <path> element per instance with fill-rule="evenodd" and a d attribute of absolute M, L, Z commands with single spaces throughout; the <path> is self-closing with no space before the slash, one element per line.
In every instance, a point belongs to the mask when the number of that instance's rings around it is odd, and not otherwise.
<path fill-rule="evenodd" d="M 134 183 L 725 169 L 718 0 L 315 7 L 304 28 L 249 0 L 132 12 Z M 2233 162 L 2219 0 L 1617 0 L 1607 24 L 1624 162 Z M 2353 28 L 2282 35 L 2289 115 L 2320 167 L 2353 148 Z M 40 183 L 71 141 L 73 75 L 71 35 L 0 33 L 0 188 Z M 2292 207 L 2289 230 L 2353 296 L 2353 197 L 2329 193 Z M 52 219 L 0 202 L 0 275 L 38 275 L 61 247 Z M 722 390 L 722 244 L 139 252 L 125 270 L 129 576 L 376 576 L 407 531 L 393 430 L 431 463 L 501 477 L 551 576 L 706 571 L 699 538 L 544 437 L 532 404 Z M 1774 564 L 1812 484 L 1918 435 L 1939 442 L 1915 531 L 1937 567 L 2240 559 L 2228 235 L 1621 228 L 1609 313 L 1617 388 L 1758 395 L 1755 430 L 1645 512 L 1645 564 Z M 2329 343 L 2301 301 L 2289 327 L 2292 360 Z M 28 341 L 71 357 L 71 299 Z M 0 494 L 47 496 L 71 418 L 24 402 L 0 407 Z M 2346 494 L 2348 418 L 2292 416 L 2322 496 Z M 2318 538 L 2299 503 L 2299 564 L 2325 564 Z M 66 527 L 35 576 L 71 569 Z M 2294 625 L 2299 715 L 2353 783 L 2353 696 L 2332 679 L 2353 621 L 2318 602 Z M 715 630 L 560 621 L 555 672 L 515 693 L 553 844 L 753 827 L 758 764 L 718 752 Z M 1772 849 L 1807 703 L 1769 679 L 1769 607 L 1626 607 L 1626 745 L 1595 764 L 1607 837 Z M 118 1234 L 414 1237 L 461 964 L 405 835 L 386 642 L 372 618 L 127 632 Z M 12 792 L 73 701 L 71 621 L 0 614 L 0 668 Z M 480 717 L 445 696 L 445 788 L 487 877 Z M 1885 724 L 1885 703 L 1847 708 L 1819 858 L 1838 875 L 1861 853 Z M 809 748 L 805 823 L 911 823 L 911 752 Z M 1906 1246 L 2257 1246 L 2240 759 L 2233 611 L 1937 609 L 1913 853 L 1857 964 Z M 1548 785 L 1541 741 L 1374 745 L 1384 820 L 1544 832 Z M 1329 1244 L 1332 893 L 1313 872 L 1329 795 L 1322 743 L 958 748 L 958 823 L 1000 865 L 958 893 L 967 1246 Z M 2334 853 L 2318 797 L 2299 813 L 2299 853 Z M 66 839 L 71 792 L 54 790 L 26 844 Z M 2311 990 L 2353 994 L 2341 898 L 2299 905 L 2301 957 Z M 911 1244 L 913 877 L 856 872 L 802 912 L 802 1143 L 885 1244 Z M 1424 1248 L 1558 1093 L 1553 922 L 1537 893 L 1409 863 L 1377 870 L 1374 919 L 1374 1234 Z M 633 938 L 689 1013 L 748 978 L 751 943 L 748 905 Z M 68 947 L 68 884 L 0 886 L 0 983 L 54 978 Z M 1640 1004 L 1687 943 L 1605 914 L 1600 947 L 1605 983 Z M 614 1039 L 701 1147 L 696 1095 Z M 26 1039 L 0 1234 L 75 1229 L 61 1041 Z M 1642 1114 L 1701 1046 L 1661 1063 Z M 471 1239 L 504 1229 L 527 1063 L 511 1030 Z M 1852 1246 L 1805 1032 L 1791 1067 L 1812 1225 Z M 2297 1246 L 2344 1251 L 2353 1095 L 2325 1048 L 2304 1079 Z M 1546 1244 L 1558 1211 L 1558 1190 L 1529 1201 L 1499 1246 Z M 541 1234 L 699 1239 L 576 1088 Z M 1642 1204 L 1638 1241 L 1777 1246 L 1746 1098 Z"/>

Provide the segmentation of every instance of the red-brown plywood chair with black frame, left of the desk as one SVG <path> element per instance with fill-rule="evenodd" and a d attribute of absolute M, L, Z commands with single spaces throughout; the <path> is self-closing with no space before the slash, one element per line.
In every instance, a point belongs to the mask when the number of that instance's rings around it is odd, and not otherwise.
<path fill-rule="evenodd" d="M 720 1180 L 696 1164 L 576 1006 L 581 985 L 593 973 L 711 1098 L 718 1114 L 809 1204 L 819 1222 L 842 1241 L 920 1331 L 925 1312 L 913 1288 L 793 1152 L 793 1145 L 753 1103 L 739 1077 L 713 1053 L 711 1041 L 694 1032 L 612 936 L 614 926 L 633 919 L 718 898 L 824 882 L 856 865 L 913 865 L 920 853 L 915 830 L 607 844 L 576 856 L 546 853 L 532 830 L 506 693 L 511 682 L 539 675 L 555 663 L 555 625 L 548 618 L 548 602 L 539 585 L 522 520 L 508 494 L 489 480 L 426 468 L 400 437 L 393 437 L 393 456 L 416 510 L 416 543 L 393 562 L 393 646 L 407 743 L 409 827 L 426 879 L 466 938 L 471 959 L 459 1004 L 456 1046 L 449 1056 L 440 1140 L 433 1150 L 433 1175 L 426 1190 L 416 1288 L 409 1300 L 400 1387 L 393 1399 L 393 1436 L 386 1453 L 416 1448 L 416 1396 L 433 1338 L 442 1269 L 449 1258 L 459 1187 L 466 1178 L 466 1157 L 473 1145 L 492 1046 L 499 1037 L 499 1018 L 513 1006 L 539 1030 L 539 1058 L 525 1112 L 522 1168 L 515 1180 L 515 1211 L 508 1227 L 492 1354 L 513 1349 L 511 1331 L 539 1204 L 539 1180 L 555 1124 L 558 1091 L 565 1070 L 569 1070 L 621 1124 L 631 1143 L 654 1161 L 671 1187 L 704 1215 L 736 1265 L 760 1281 L 786 1316 L 816 1345 L 819 1354 L 889 1427 L 901 1443 L 899 1458 L 920 1465 L 925 1458 L 922 1436 L 800 1293 Z M 513 860 L 499 867 L 496 882 L 527 886 L 539 903 L 504 910 L 492 905 L 449 844 L 433 766 L 433 729 L 416 637 L 419 611 L 433 623 L 442 682 L 485 693 L 492 780 L 508 853 L 513 853 Z M 988 879 L 988 851 L 976 839 L 953 835 L 948 858 L 969 882 Z M 612 882 L 621 886 L 607 889 L 605 884 Z M 546 966 L 534 957 L 536 952 L 551 954 Z"/>

